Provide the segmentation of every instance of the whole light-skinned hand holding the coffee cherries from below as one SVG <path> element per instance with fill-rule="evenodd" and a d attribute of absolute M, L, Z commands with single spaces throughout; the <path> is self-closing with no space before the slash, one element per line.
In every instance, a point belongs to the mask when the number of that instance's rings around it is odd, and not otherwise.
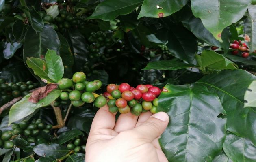
<path fill-rule="evenodd" d="M 169 117 L 150 112 L 115 114 L 104 106 L 96 113 L 85 148 L 86 162 L 168 162 L 159 145 Z"/>

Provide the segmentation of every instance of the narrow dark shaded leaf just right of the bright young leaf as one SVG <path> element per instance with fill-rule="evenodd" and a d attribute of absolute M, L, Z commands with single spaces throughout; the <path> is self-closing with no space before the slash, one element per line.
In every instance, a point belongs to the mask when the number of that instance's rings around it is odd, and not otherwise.
<path fill-rule="evenodd" d="M 61 35 L 58 34 L 61 47 L 60 47 L 60 56 L 64 65 L 64 76 L 70 78 L 72 77 L 72 68 L 74 65 L 74 55 L 70 49 L 70 46 L 67 40 Z"/>

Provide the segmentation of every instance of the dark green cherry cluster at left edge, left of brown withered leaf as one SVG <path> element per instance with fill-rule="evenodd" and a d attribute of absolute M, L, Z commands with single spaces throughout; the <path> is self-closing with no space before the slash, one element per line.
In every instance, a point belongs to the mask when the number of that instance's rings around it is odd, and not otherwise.
<path fill-rule="evenodd" d="M 6 83 L 5 79 L 0 79 L 0 91 L 4 101 L 10 101 L 12 98 L 26 96 L 29 94 L 29 90 L 32 90 L 39 86 L 39 83 L 33 83 L 32 81 Z"/>

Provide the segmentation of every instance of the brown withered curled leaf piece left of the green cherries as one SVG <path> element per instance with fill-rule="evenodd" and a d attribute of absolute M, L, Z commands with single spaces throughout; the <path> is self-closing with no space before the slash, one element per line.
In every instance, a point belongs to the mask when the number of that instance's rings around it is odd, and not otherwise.
<path fill-rule="evenodd" d="M 37 103 L 39 100 L 45 98 L 52 90 L 55 90 L 58 88 L 58 84 L 48 84 L 44 87 L 40 87 L 35 89 L 31 96 L 28 98 L 29 102 Z"/>

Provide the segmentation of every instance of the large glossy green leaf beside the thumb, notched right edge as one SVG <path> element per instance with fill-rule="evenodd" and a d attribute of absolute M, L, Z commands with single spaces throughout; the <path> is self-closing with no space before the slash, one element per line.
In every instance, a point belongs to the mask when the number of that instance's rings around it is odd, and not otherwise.
<path fill-rule="evenodd" d="M 226 115 L 218 96 L 199 84 L 164 88 L 157 111 L 170 117 L 159 139 L 165 156 L 171 162 L 212 161 L 226 135 L 226 119 L 217 117 Z"/>

